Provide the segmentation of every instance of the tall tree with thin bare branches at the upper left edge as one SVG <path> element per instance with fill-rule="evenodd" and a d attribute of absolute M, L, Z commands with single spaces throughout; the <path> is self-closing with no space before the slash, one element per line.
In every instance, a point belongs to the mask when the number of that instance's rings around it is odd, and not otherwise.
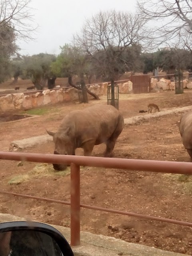
<path fill-rule="evenodd" d="M 32 40 L 34 26 L 31 0 L 0 0 L 0 82 L 12 75 L 11 58 L 19 56 L 16 40 Z M 15 70 L 16 72 L 16 70 Z M 18 72 L 14 74 L 17 81 Z"/>

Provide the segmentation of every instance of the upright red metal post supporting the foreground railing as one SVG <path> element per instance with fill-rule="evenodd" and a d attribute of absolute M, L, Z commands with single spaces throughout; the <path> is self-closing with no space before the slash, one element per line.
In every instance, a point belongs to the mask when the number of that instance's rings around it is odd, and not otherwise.
<path fill-rule="evenodd" d="M 80 166 L 71 163 L 71 246 L 80 245 Z"/>

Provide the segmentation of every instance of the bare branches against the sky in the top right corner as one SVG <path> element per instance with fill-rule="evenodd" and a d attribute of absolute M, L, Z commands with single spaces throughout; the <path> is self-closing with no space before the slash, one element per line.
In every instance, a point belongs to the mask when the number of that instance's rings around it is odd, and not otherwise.
<path fill-rule="evenodd" d="M 137 0 L 137 5 L 139 14 L 153 27 L 156 44 L 169 42 L 192 49 L 191 0 Z"/>

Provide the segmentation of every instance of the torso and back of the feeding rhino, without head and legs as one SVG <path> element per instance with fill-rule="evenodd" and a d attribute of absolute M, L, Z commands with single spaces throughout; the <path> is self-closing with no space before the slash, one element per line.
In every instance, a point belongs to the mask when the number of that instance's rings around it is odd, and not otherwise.
<path fill-rule="evenodd" d="M 110 138 L 118 122 L 122 122 L 123 128 L 123 118 L 116 108 L 96 104 L 83 110 L 70 112 L 64 118 L 60 128 L 71 126 L 78 146 L 88 140 L 95 140 L 97 145 Z"/>

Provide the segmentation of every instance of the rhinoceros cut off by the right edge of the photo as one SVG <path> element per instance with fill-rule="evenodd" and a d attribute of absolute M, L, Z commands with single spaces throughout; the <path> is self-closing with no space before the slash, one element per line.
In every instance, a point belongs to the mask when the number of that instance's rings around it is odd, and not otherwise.
<path fill-rule="evenodd" d="M 192 162 L 192 110 L 181 116 L 179 132 L 182 137 L 183 146 L 190 155 Z"/>

